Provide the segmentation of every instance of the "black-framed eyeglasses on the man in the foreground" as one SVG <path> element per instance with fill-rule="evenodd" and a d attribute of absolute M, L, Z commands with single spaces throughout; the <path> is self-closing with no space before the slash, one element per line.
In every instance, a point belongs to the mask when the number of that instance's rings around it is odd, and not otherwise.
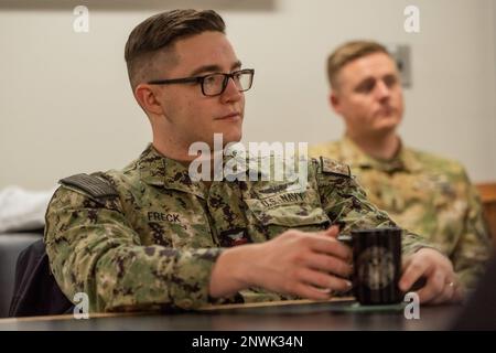
<path fill-rule="evenodd" d="M 239 92 L 246 92 L 251 88 L 254 83 L 254 68 L 244 68 L 235 71 L 230 74 L 215 73 L 205 76 L 172 78 L 172 79 L 154 79 L 150 81 L 149 85 L 170 85 L 170 84 L 184 84 L 196 83 L 201 84 L 202 93 L 205 96 L 213 97 L 218 96 L 226 90 L 229 78 L 233 78 L 236 87 Z"/>

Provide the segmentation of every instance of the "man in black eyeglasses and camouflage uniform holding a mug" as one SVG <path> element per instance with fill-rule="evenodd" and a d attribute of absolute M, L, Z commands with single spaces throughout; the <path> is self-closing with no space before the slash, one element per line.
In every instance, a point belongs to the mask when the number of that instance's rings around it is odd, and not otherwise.
<path fill-rule="evenodd" d="M 309 163 L 299 197 L 288 182 L 192 181 L 192 143 L 241 139 L 242 68 L 214 11 L 174 10 L 130 34 L 131 87 L 153 142 L 122 170 L 61 181 L 46 213 L 45 244 L 63 292 L 90 311 L 198 308 L 208 303 L 328 299 L 351 287 L 351 249 L 337 234 L 393 226 L 349 169 Z M 271 200 L 271 202 L 267 202 Z M 420 277 L 422 302 L 460 299 L 451 263 L 405 232 L 407 291 Z"/>

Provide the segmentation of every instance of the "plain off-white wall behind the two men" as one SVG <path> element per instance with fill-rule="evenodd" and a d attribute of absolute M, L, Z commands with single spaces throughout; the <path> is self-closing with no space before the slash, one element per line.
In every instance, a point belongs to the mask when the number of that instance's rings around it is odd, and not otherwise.
<path fill-rule="evenodd" d="M 474 181 L 496 180 L 494 0 L 149 0 L 126 9 L 48 1 L 45 10 L 8 2 L 0 0 L 0 189 L 47 189 L 138 157 L 151 132 L 127 82 L 123 45 L 141 20 L 177 3 L 218 10 L 239 57 L 256 68 L 245 141 L 339 137 L 325 58 L 343 41 L 369 38 L 411 45 L 407 143 L 461 160 Z M 79 3 L 89 8 L 89 33 L 73 31 Z M 407 4 L 420 8 L 418 34 L 403 31 Z"/>

